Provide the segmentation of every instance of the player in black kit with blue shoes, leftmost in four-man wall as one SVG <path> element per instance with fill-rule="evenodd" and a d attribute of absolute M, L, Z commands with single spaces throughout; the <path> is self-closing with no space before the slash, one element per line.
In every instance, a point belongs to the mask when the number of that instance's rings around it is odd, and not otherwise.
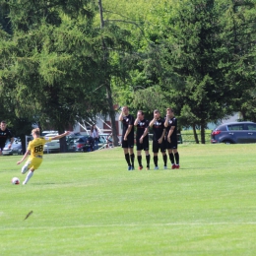
<path fill-rule="evenodd" d="M 124 157 L 128 163 L 128 170 L 134 169 L 134 117 L 129 114 L 128 106 L 122 108 L 119 121 L 123 123 L 122 148 Z M 129 152 L 128 152 L 129 150 Z M 129 156 L 130 153 L 130 156 Z"/>

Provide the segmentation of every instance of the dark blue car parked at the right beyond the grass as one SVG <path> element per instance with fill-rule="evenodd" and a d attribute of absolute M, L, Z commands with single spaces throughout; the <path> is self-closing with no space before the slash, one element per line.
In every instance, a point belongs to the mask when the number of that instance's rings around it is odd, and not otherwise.
<path fill-rule="evenodd" d="M 213 130 L 211 143 L 256 143 L 256 123 L 224 123 Z"/>

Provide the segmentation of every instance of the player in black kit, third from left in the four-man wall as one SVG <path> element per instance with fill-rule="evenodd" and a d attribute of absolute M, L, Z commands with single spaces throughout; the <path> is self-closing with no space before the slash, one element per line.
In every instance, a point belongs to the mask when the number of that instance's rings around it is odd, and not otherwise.
<path fill-rule="evenodd" d="M 166 169 L 167 157 L 165 154 L 165 142 L 164 142 L 164 119 L 160 117 L 160 111 L 156 109 L 154 111 L 154 118 L 150 122 L 150 127 L 153 128 L 153 153 L 154 153 L 154 163 L 155 169 L 159 169 L 158 161 L 159 161 L 159 151 L 161 152 L 163 159 L 163 168 Z"/>

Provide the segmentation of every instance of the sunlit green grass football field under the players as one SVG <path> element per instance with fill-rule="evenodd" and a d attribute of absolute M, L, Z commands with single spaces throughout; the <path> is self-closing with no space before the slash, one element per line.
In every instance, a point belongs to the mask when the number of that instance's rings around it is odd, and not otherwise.
<path fill-rule="evenodd" d="M 180 169 L 141 171 L 120 148 L 45 155 L 25 186 L 1 157 L 0 255 L 256 255 L 255 152 L 180 145 Z"/>

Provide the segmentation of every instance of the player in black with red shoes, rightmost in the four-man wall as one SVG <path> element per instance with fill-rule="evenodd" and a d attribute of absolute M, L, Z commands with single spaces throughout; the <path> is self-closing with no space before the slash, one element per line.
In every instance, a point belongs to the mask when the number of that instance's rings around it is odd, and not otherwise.
<path fill-rule="evenodd" d="M 166 149 L 168 151 L 171 168 L 179 168 L 178 140 L 177 140 L 177 119 L 172 108 L 166 109 L 164 126 L 166 127 Z M 176 164 L 174 162 L 174 158 Z"/>

